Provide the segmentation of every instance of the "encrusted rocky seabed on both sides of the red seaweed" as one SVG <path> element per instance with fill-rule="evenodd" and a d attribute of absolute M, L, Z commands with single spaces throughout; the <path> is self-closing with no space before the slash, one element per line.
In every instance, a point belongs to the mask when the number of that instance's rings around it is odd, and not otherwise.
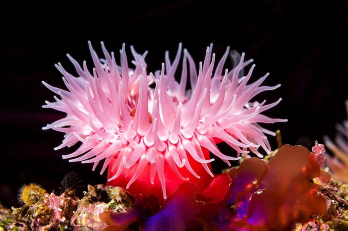
<path fill-rule="evenodd" d="M 310 222 L 294 224 L 292 231 L 348 230 L 348 184 L 334 179 L 324 183 L 319 177 L 314 182 L 320 185 L 328 210 Z M 125 189 L 88 185 L 82 199 L 45 193 L 37 202 L 20 208 L 0 205 L 0 231 L 102 231 L 107 225 L 99 219 L 100 213 L 124 213 L 130 208 L 135 208 L 135 201 Z"/>

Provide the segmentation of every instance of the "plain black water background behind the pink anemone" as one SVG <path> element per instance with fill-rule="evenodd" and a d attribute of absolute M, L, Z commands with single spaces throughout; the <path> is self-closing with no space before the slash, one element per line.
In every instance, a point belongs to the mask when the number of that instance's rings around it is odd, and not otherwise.
<path fill-rule="evenodd" d="M 59 61 L 75 74 L 66 53 L 79 62 L 87 60 L 91 67 L 88 40 L 100 56 L 100 41 L 109 52 L 117 52 L 123 42 L 128 55 L 128 45 L 134 45 L 139 53 L 148 50 L 150 71 L 160 68 L 166 50 L 173 58 L 179 42 L 197 62 L 203 60 L 211 42 L 218 57 L 231 46 L 254 58 L 253 80 L 270 72 L 265 84 L 282 84 L 257 99 L 274 102 L 283 98 L 265 114 L 289 121 L 266 128 L 281 129 L 284 143 L 306 147 L 322 141 L 324 134 L 334 136 L 335 123 L 346 118 L 344 102 L 348 99 L 347 1 L 226 2 L 17 3 L 1 7 L 2 204 L 17 205 L 17 190 L 24 183 L 58 190 L 63 176 L 71 171 L 80 173 L 85 183 L 105 182 L 106 175 L 92 172 L 90 165 L 61 159 L 74 148 L 53 151 L 63 133 L 41 130 L 64 116 L 41 108 L 45 100 L 53 100 L 53 93 L 41 80 L 64 88 L 53 64 Z M 269 140 L 275 148 L 275 138 Z M 219 163 L 215 170 L 218 168 Z"/>

